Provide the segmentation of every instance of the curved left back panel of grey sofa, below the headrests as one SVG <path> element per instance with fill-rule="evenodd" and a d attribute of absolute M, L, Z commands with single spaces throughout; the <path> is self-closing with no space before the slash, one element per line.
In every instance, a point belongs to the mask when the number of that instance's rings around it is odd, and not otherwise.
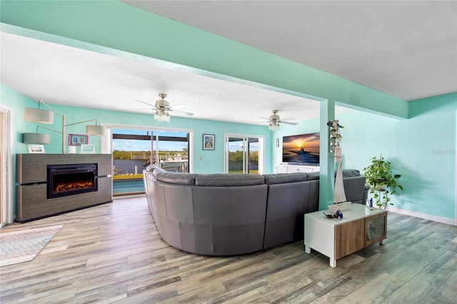
<path fill-rule="evenodd" d="M 157 177 L 156 216 L 167 243 L 204 255 L 263 248 L 268 186 L 188 186 Z"/>

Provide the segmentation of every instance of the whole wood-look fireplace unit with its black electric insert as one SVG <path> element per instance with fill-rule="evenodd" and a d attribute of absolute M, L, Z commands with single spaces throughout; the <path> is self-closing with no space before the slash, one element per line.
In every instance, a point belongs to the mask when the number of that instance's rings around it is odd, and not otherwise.
<path fill-rule="evenodd" d="M 26 223 L 112 202 L 112 163 L 111 154 L 16 154 L 15 220 Z"/>

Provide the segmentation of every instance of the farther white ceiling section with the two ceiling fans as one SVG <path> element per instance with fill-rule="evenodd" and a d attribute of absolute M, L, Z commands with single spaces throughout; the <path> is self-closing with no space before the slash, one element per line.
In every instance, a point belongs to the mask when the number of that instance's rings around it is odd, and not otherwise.
<path fill-rule="evenodd" d="M 319 116 L 318 101 L 294 95 L 5 32 L 0 40 L 1 83 L 37 101 L 152 114 L 139 101 L 154 104 L 166 93 L 171 105 L 184 104 L 177 109 L 193 118 L 266 124 L 260 117 L 273 109 L 297 121 Z M 348 109 L 336 108 L 342 111 Z"/>

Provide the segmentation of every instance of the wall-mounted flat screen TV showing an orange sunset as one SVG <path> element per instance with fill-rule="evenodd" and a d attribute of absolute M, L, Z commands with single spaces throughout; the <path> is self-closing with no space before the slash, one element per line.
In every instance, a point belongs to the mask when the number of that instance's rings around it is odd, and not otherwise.
<path fill-rule="evenodd" d="M 319 133 L 283 136 L 283 163 L 319 166 Z"/>

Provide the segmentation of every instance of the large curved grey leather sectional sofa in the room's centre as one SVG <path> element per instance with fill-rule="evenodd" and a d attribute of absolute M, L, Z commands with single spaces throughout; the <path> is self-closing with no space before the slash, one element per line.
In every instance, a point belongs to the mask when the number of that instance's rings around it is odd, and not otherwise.
<path fill-rule="evenodd" d="M 303 239 L 303 214 L 318 211 L 318 173 L 173 173 L 144 170 L 149 209 L 170 245 L 238 255 Z M 343 171 L 348 201 L 366 201 L 365 176 Z"/>

